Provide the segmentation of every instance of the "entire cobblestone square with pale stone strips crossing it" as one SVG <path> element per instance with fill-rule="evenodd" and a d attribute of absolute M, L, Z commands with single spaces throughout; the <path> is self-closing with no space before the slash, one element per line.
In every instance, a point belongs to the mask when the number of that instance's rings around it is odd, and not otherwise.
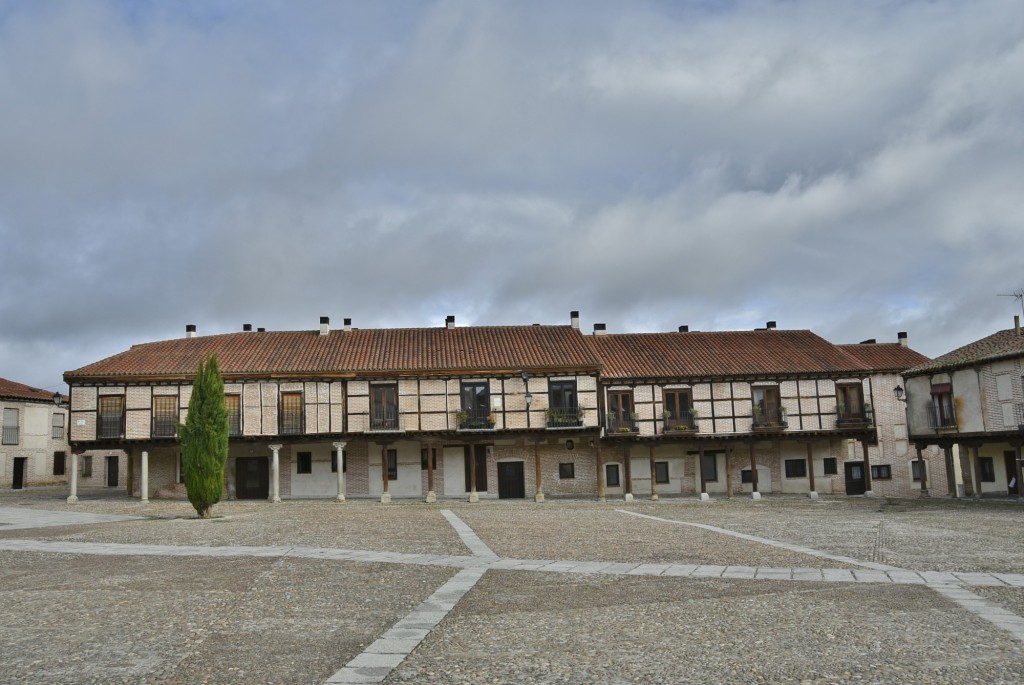
<path fill-rule="evenodd" d="M 1024 682 L 1014 503 L 60 496 L 0 494 L 0 683 Z"/>

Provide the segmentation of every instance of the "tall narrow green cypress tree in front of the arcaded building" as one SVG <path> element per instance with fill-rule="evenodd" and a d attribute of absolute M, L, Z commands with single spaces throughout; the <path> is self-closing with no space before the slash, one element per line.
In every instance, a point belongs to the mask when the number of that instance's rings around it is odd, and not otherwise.
<path fill-rule="evenodd" d="M 199 362 L 188 416 L 178 424 L 178 436 L 188 501 L 201 518 L 210 518 L 224 489 L 227 462 L 227 405 L 216 354 Z"/>

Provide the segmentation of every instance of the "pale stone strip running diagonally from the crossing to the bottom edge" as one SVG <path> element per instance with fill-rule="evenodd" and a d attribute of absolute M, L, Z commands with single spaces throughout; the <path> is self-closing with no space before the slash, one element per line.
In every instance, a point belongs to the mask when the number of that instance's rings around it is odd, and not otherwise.
<path fill-rule="evenodd" d="M 464 568 L 407 614 L 366 650 L 328 678 L 337 683 L 380 683 L 416 649 L 427 634 L 480 580 L 486 568 Z"/>

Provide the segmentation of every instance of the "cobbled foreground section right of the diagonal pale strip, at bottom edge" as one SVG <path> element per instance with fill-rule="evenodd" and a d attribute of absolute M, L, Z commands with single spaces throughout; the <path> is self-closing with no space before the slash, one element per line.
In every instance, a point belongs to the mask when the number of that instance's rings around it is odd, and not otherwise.
<path fill-rule="evenodd" d="M 1022 645 L 921 587 L 492 571 L 387 683 L 1020 683 Z"/>

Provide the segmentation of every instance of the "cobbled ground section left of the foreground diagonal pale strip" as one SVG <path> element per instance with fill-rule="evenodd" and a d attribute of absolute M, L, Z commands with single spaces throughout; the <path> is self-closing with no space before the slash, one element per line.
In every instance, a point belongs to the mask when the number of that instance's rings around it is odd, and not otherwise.
<path fill-rule="evenodd" d="M 0 683 L 323 683 L 452 576 L 300 559 L 0 556 Z"/>

